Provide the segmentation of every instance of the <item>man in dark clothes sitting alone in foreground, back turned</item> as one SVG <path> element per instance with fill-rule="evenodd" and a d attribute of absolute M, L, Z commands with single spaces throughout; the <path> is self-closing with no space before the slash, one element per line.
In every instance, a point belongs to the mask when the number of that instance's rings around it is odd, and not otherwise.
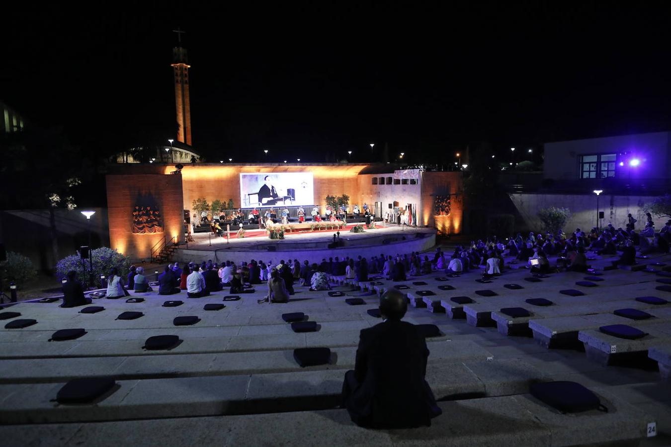
<path fill-rule="evenodd" d="M 382 322 L 361 331 L 354 370 L 342 386 L 343 406 L 358 426 L 430 426 L 442 413 L 425 380 L 426 341 L 417 326 L 401 321 L 406 311 L 405 296 L 388 290 L 380 298 Z"/>

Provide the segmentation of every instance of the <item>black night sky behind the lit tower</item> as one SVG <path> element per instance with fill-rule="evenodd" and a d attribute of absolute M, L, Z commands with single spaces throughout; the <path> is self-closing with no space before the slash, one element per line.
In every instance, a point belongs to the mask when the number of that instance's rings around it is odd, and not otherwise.
<path fill-rule="evenodd" d="M 180 26 L 211 160 L 368 160 L 375 142 L 421 161 L 671 129 L 663 2 L 136 3 L 3 5 L 0 101 L 100 155 L 162 143 Z"/>

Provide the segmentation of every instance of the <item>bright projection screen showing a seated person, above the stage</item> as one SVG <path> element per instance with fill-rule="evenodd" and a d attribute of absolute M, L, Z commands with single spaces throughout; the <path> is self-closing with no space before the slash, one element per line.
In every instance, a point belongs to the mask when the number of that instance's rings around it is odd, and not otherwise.
<path fill-rule="evenodd" d="M 313 205 L 314 196 L 311 172 L 240 173 L 242 208 Z"/>

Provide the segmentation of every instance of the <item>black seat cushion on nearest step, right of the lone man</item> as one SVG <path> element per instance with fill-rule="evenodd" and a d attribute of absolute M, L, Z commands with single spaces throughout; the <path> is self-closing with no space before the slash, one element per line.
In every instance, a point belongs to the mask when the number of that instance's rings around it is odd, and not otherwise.
<path fill-rule="evenodd" d="M 602 407 L 595 393 L 576 382 L 533 383 L 529 391 L 533 397 L 562 413 L 578 413 Z"/>

